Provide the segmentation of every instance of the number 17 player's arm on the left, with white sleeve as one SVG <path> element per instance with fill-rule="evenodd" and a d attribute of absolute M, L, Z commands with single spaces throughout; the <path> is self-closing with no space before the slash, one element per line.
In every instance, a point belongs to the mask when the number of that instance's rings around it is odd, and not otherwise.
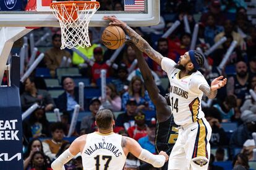
<path fill-rule="evenodd" d="M 59 157 L 51 163 L 51 168 L 53 170 L 65 170 L 64 164 L 68 163 L 72 158 L 74 158 L 77 153 L 80 152 L 80 148 L 85 145 L 85 136 L 80 136 L 72 142 L 70 147 L 65 150 Z"/>

